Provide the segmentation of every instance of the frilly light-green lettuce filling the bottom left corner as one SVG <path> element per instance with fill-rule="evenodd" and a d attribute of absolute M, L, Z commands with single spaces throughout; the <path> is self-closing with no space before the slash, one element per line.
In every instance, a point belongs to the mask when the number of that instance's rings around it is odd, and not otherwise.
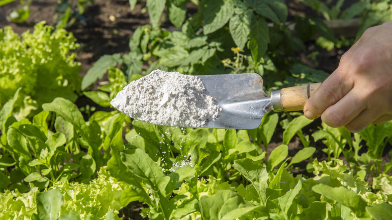
<path fill-rule="evenodd" d="M 119 201 L 128 186 L 102 167 L 89 184 L 56 182 L 45 192 L 30 188 L 0 193 L 1 219 L 120 219 Z"/>

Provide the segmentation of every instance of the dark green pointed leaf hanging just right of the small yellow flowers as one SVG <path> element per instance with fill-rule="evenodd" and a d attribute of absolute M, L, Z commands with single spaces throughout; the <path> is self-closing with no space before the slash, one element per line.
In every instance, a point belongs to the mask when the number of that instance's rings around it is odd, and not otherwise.
<path fill-rule="evenodd" d="M 254 62 L 257 63 L 263 57 L 265 51 L 267 51 L 269 42 L 268 24 L 264 18 L 253 16 L 249 38 L 248 47 Z"/>

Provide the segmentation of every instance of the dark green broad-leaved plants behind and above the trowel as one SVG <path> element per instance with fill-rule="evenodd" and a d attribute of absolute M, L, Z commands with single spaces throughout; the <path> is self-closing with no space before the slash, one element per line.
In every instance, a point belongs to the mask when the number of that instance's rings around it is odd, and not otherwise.
<path fill-rule="evenodd" d="M 117 65 L 127 81 L 133 74 L 145 75 L 158 68 L 192 75 L 256 72 L 264 77 L 268 89 L 315 82 L 315 79 L 322 81 L 328 76 L 297 65 L 296 73 L 287 77 L 286 72 L 296 60 L 289 57 L 305 49 L 305 45 L 291 36 L 285 23 L 287 7 L 283 1 L 193 1 L 200 10 L 185 19 L 182 15 L 186 13 L 183 7 L 186 2 L 147 1 L 151 25 L 134 32 L 129 43 L 131 52 L 124 56 L 103 56 L 84 76 L 81 89 Z M 131 8 L 134 4 L 136 1 L 131 2 Z M 165 6 L 169 21 L 180 30 L 167 31 L 159 26 Z M 230 50 L 232 54 L 227 53 Z M 143 64 L 148 69 L 142 68 Z"/>

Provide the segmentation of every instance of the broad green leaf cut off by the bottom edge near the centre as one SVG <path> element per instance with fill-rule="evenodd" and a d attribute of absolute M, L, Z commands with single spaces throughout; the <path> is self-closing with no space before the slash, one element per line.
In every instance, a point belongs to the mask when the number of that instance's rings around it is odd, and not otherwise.
<path fill-rule="evenodd" d="M 246 203 L 236 192 L 221 190 L 214 195 L 203 195 L 200 207 L 203 219 L 234 220 L 258 206 Z"/>

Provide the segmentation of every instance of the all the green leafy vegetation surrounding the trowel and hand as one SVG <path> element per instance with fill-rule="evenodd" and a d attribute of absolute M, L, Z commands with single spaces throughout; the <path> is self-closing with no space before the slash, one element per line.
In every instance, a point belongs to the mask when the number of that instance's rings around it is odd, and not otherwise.
<path fill-rule="evenodd" d="M 137 1 L 129 2 L 133 9 Z M 89 105 L 83 118 L 73 103 L 80 91 L 110 107 L 125 85 L 156 68 L 256 72 L 268 89 L 321 82 L 328 74 L 295 53 L 314 36 L 338 46 L 322 18 L 360 16 L 365 27 L 372 13 L 379 20 L 370 25 L 392 14 L 390 6 L 377 11 L 388 1 L 343 12 L 343 1 L 304 1 L 323 17 L 296 18 L 295 37 L 283 1 L 192 1 L 200 10 L 191 16 L 187 2 L 147 0 L 151 25 L 135 31 L 131 52 L 101 57 L 82 80 L 71 33 L 44 23 L 22 39 L 0 30 L 0 219 L 119 219 L 134 201 L 149 219 L 392 219 L 392 162 L 383 158 L 392 122 L 352 134 L 325 124 L 310 130 L 313 121 L 300 113 L 269 113 L 253 130 L 192 129 Z M 160 26 L 164 7 L 163 19 L 179 30 Z M 108 84 L 86 90 L 107 72 Z M 293 139 L 301 142 L 295 153 Z M 279 142 L 272 150 L 271 140 Z"/>

